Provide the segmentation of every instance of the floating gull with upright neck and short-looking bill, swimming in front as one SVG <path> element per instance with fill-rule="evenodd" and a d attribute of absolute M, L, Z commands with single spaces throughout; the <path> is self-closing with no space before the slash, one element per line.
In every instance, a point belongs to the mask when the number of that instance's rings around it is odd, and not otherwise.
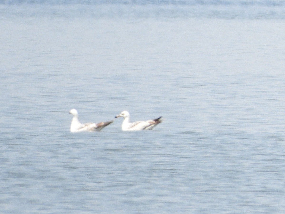
<path fill-rule="evenodd" d="M 70 132 L 99 132 L 105 126 L 113 123 L 114 120 L 101 123 L 80 123 L 78 112 L 75 109 L 70 110 L 69 114 L 73 115 L 70 125 Z"/>

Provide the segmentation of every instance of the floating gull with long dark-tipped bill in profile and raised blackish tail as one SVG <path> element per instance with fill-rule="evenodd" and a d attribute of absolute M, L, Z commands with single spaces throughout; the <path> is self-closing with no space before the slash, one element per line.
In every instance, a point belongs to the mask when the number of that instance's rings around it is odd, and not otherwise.
<path fill-rule="evenodd" d="M 162 122 L 162 120 L 160 120 L 162 117 L 159 117 L 154 120 L 137 121 L 130 123 L 130 114 L 127 111 L 123 111 L 121 114 L 115 116 L 115 118 L 118 117 L 124 118 L 122 124 L 123 131 L 152 130 L 157 124 Z"/>

